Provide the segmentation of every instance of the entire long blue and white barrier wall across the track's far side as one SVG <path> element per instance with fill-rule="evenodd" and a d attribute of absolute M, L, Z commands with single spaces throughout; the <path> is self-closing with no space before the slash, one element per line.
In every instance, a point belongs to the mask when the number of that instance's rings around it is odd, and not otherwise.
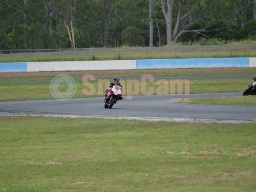
<path fill-rule="evenodd" d="M 256 58 L 149 59 L 129 61 L 121 60 L 118 61 L 117 66 L 115 63 L 117 61 L 99 61 L 102 64 L 99 63 L 98 67 L 96 66 L 97 62 L 98 61 L 0 63 L 0 73 L 57 70 L 110 70 L 112 68 L 119 69 L 118 66 L 121 67 L 120 69 L 256 67 Z M 70 67 L 70 65 L 73 65 L 73 67 Z M 101 69 L 100 66 L 102 66 L 103 68 Z"/>

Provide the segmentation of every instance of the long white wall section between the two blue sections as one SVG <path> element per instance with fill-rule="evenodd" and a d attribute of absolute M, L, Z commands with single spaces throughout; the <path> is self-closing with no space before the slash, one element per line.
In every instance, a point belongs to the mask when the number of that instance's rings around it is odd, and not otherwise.
<path fill-rule="evenodd" d="M 114 61 L 59 61 L 28 62 L 27 72 L 36 71 L 79 71 L 79 70 L 128 70 L 136 69 L 136 60 Z"/>

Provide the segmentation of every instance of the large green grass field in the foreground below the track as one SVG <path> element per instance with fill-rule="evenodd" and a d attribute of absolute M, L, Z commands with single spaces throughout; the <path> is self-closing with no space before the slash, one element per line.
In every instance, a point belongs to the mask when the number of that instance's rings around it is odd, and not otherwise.
<path fill-rule="evenodd" d="M 256 190 L 254 123 L 0 122 L 0 191 Z"/>

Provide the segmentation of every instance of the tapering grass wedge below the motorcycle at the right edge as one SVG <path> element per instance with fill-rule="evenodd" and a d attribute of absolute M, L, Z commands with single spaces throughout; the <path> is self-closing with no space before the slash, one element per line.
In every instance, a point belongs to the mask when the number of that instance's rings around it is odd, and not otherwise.
<path fill-rule="evenodd" d="M 256 96 L 192 99 L 190 101 L 183 101 L 182 103 L 204 104 L 204 105 L 253 105 L 253 106 L 256 106 Z"/>

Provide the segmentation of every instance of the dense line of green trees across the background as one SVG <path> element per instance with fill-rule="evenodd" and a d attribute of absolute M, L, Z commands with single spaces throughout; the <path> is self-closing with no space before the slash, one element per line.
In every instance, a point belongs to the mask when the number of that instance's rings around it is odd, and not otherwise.
<path fill-rule="evenodd" d="M 0 49 L 256 38 L 256 0 L 0 0 Z"/>

